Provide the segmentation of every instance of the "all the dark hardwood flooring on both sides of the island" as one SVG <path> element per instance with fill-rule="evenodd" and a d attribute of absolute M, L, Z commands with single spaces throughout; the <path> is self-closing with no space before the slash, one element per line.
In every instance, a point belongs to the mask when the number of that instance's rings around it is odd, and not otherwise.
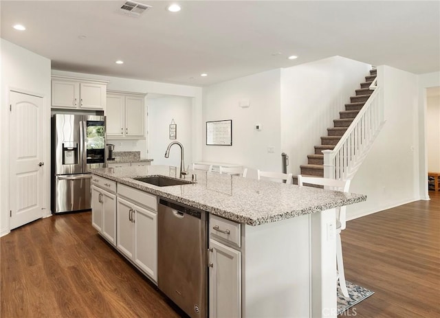
<path fill-rule="evenodd" d="M 345 315 L 440 317 L 440 192 L 347 223 L 347 280 L 375 291 Z M 181 317 L 91 227 L 52 216 L 1 238 L 1 318 Z"/>

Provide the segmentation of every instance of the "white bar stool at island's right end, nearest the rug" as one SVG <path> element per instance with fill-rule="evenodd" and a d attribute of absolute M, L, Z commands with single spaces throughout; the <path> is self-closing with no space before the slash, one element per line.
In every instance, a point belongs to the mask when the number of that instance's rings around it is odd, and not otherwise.
<path fill-rule="evenodd" d="M 351 180 L 335 180 L 319 177 L 304 177 L 298 174 L 298 185 L 302 187 L 304 184 L 310 185 L 323 185 L 325 189 L 336 190 L 342 192 L 349 192 Z M 349 291 L 347 290 L 347 284 L 345 283 L 344 274 L 344 261 L 342 260 L 342 242 L 341 242 L 341 231 L 346 227 L 346 207 L 336 208 L 336 266 L 338 273 L 336 279 L 339 281 L 342 294 L 344 297 L 349 297 Z"/>

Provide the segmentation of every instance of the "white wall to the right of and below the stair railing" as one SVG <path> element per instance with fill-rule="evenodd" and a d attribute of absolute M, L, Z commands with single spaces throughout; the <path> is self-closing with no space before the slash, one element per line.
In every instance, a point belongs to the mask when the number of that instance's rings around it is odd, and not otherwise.
<path fill-rule="evenodd" d="M 386 66 L 377 73 L 386 123 L 351 183 L 367 201 L 347 207 L 349 220 L 420 198 L 417 76 Z"/>

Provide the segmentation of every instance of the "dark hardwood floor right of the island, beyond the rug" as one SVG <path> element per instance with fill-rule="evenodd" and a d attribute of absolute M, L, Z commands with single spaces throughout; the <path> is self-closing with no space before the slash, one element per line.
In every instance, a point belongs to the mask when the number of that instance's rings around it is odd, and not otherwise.
<path fill-rule="evenodd" d="M 347 223 L 347 280 L 375 291 L 357 318 L 440 317 L 440 192 Z"/>

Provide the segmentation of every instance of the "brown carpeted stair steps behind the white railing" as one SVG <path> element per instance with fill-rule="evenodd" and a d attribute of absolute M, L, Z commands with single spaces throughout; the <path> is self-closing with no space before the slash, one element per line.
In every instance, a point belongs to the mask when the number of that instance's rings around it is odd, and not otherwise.
<path fill-rule="evenodd" d="M 351 96 L 350 103 L 345 104 L 345 111 L 340 111 L 340 117 L 333 120 L 333 127 L 327 128 L 327 136 L 321 137 L 321 144 L 315 146 L 315 152 L 308 155 L 307 165 L 301 165 L 301 174 L 324 177 L 324 155 L 322 150 L 333 150 L 344 133 L 347 131 L 355 117 L 358 115 L 365 102 L 374 92 L 369 87 L 376 78 L 376 69 L 371 69 L 370 75 L 365 77 L 365 82 L 360 83 L 360 89 L 356 89 L 355 96 Z M 296 178 L 294 178 L 294 183 Z"/>

